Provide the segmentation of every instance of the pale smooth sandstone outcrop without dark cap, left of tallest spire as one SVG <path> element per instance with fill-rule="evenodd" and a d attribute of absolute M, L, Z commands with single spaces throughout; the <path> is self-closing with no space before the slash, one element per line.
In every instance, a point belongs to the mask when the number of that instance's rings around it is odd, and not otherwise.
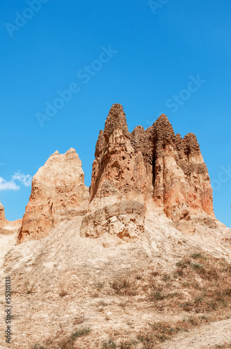
<path fill-rule="evenodd" d="M 33 177 L 18 240 L 41 239 L 63 219 L 86 214 L 89 191 L 74 149 L 55 151 Z"/>

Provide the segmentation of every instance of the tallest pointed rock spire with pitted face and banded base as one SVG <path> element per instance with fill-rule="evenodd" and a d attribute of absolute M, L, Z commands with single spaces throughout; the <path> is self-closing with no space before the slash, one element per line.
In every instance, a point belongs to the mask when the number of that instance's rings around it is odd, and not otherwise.
<path fill-rule="evenodd" d="M 144 232 L 145 174 L 141 151 L 131 145 L 122 105 L 114 104 L 99 132 L 89 214 L 83 218 L 81 236 L 135 242 Z"/>

